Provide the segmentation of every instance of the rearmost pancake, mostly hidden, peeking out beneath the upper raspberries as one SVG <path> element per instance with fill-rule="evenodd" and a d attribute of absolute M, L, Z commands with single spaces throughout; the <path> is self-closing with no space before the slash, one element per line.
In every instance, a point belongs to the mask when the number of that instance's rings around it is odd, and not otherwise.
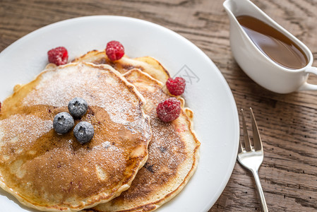
<path fill-rule="evenodd" d="M 91 62 L 93 64 L 109 64 L 120 73 L 126 73 L 131 69 L 140 69 L 162 83 L 165 83 L 169 78 L 168 71 L 159 61 L 152 57 L 137 57 L 131 59 L 124 55 L 124 57 L 119 60 L 111 61 L 104 51 L 93 50 L 73 60 L 73 62 L 78 61 Z"/>

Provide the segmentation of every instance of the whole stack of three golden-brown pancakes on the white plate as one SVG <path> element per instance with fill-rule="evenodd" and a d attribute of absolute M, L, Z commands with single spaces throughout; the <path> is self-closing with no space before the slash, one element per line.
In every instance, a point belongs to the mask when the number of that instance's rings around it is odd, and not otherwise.
<path fill-rule="evenodd" d="M 156 106 L 171 95 L 155 59 L 110 61 L 92 51 L 64 66 L 49 64 L 16 86 L 0 112 L 0 187 L 42 211 L 153 211 L 176 196 L 198 163 L 193 112 L 181 101 L 173 122 Z M 54 115 L 80 97 L 95 136 L 58 135 Z M 76 124 L 75 123 L 75 124 Z"/>

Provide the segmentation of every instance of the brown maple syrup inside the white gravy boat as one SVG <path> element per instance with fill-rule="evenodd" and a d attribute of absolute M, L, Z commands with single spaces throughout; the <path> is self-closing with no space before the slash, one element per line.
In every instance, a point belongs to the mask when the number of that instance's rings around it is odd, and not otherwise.
<path fill-rule="evenodd" d="M 287 69 L 301 69 L 308 64 L 306 54 L 280 31 L 257 18 L 238 16 L 241 27 L 266 56 Z"/>

